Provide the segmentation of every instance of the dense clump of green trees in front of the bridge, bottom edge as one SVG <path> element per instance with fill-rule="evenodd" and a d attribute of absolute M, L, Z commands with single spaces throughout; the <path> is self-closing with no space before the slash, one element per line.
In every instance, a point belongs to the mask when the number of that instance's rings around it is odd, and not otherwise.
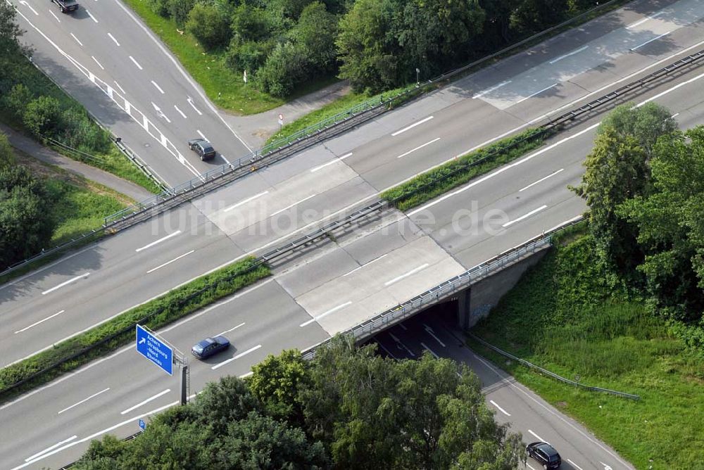
<path fill-rule="evenodd" d="M 208 383 L 134 440 L 94 440 L 73 468 L 513 470 L 524 459 L 465 364 L 384 359 L 337 336 L 313 360 L 287 350 L 252 372 Z"/>

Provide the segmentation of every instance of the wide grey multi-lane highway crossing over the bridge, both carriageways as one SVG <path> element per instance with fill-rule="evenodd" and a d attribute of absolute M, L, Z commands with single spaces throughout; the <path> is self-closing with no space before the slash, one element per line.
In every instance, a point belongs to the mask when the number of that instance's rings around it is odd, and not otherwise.
<path fill-rule="evenodd" d="M 691 5 L 684 9 L 692 10 Z M 626 27 L 648 18 L 648 14 L 653 11 L 620 11 L 613 16 Z M 648 20 L 638 27 L 650 21 L 655 23 Z M 604 27 L 603 20 L 595 24 L 597 29 Z M 586 34 L 589 25 L 583 30 L 572 34 Z M 651 36 L 662 34 L 658 31 Z M 572 101 L 592 92 L 603 94 L 601 88 L 618 86 L 614 79 L 626 80 L 648 66 L 644 72 L 653 71 L 658 61 L 662 67 L 688 48 L 689 53 L 698 51 L 703 36 L 700 23 L 682 23 L 667 36 L 677 42 L 667 50 L 654 41 L 614 58 L 608 69 L 615 76 L 607 74 L 608 80 L 589 69 L 570 79 L 581 80 L 584 86 L 576 95 L 530 97 L 532 89 L 527 89 L 525 96 L 504 109 L 485 101 L 493 99 L 491 93 L 503 93 L 501 88 L 472 99 L 491 84 L 490 70 L 479 72 L 2 286 L 1 365 L 49 348 L 61 338 L 244 253 L 277 246 L 294 231 L 305 231 L 308 224 L 372 201 L 379 190 L 537 120 L 548 111 L 574 106 Z M 527 53 L 494 68 L 513 70 L 517 77 L 541 68 L 536 65 L 540 62 L 531 60 L 555 61 L 570 53 L 575 44 L 567 42 L 560 47 L 562 43 L 553 39 L 548 45 L 536 46 L 542 56 Z M 665 80 L 641 94 L 638 101 L 662 94 L 657 101 L 679 113 L 681 126 L 700 124 L 701 73 L 694 69 Z M 583 75 L 593 77 L 590 87 L 586 87 Z M 526 80 L 532 83 L 536 78 Z M 553 89 L 562 93 L 560 87 Z M 526 97 L 529 99 L 524 100 Z M 520 100 L 524 101 L 518 103 Z M 510 115 L 522 118 L 512 121 Z M 363 227 L 336 235 L 334 241 L 319 243 L 318 249 L 275 266 L 272 279 L 161 331 L 177 348 L 187 351 L 203 336 L 232 330 L 226 334 L 235 345 L 230 352 L 215 362 L 193 362 L 191 391 L 222 374 L 246 374 L 267 353 L 318 343 L 579 215 L 584 203 L 565 185 L 579 180 L 596 122 L 598 117 L 580 123 L 555 136 L 540 151 L 438 198 L 432 205 L 411 210 L 408 215 L 390 210 Z M 436 144 L 439 146 L 434 147 Z M 489 212 L 491 217 L 485 217 Z M 473 217 L 480 223 L 467 227 Z M 127 436 L 137 431 L 139 416 L 177 399 L 175 378 L 161 376 L 156 367 L 145 367 L 137 359 L 129 346 L 0 407 L 0 419 L 11 424 L 0 431 L 0 466 L 65 464 L 80 455 L 90 438 L 105 432 Z M 42 451 L 46 452 L 37 455 Z M 623 467 L 615 464 L 613 468 Z"/>

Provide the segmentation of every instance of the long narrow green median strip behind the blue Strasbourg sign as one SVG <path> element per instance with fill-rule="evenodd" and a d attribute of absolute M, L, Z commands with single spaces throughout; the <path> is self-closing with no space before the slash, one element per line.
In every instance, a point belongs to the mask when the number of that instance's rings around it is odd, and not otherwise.
<path fill-rule="evenodd" d="M 99 326 L 54 345 L 28 359 L 0 369 L 0 402 L 77 369 L 134 340 L 134 324 L 158 329 L 199 308 L 267 277 L 270 269 L 255 258 L 246 258 L 199 277 L 163 296 L 124 312 Z M 44 372 L 34 376 L 40 371 Z M 15 383 L 20 386 L 8 391 Z"/>

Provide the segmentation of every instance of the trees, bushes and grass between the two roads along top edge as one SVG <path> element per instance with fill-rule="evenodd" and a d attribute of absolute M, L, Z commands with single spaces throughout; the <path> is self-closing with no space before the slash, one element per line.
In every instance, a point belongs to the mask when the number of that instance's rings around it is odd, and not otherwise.
<path fill-rule="evenodd" d="M 127 0 L 218 106 L 275 108 L 349 80 L 375 94 L 485 56 L 592 0 Z M 416 74 L 416 68 L 419 70 Z M 244 82 L 244 72 L 248 82 Z"/>

